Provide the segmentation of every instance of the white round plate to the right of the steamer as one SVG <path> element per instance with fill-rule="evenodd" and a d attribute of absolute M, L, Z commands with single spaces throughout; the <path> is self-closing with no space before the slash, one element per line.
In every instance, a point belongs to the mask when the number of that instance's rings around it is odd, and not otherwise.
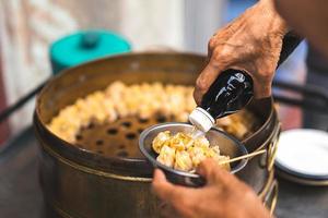
<path fill-rule="evenodd" d="M 328 133 L 296 129 L 280 135 L 276 166 L 297 177 L 328 179 Z"/>

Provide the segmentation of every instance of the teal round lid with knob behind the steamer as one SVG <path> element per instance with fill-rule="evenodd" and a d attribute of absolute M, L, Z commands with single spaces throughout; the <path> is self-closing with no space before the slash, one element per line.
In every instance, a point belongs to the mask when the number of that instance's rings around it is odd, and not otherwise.
<path fill-rule="evenodd" d="M 107 31 L 78 32 L 55 41 L 50 47 L 52 73 L 106 56 L 128 52 L 127 39 Z"/>

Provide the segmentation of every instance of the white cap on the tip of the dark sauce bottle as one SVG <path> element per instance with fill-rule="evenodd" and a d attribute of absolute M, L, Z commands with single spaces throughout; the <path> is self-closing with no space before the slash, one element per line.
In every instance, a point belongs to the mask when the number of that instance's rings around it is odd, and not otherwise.
<path fill-rule="evenodd" d="M 200 107 L 192 110 L 189 114 L 189 121 L 202 132 L 208 132 L 215 124 L 215 120 L 212 116 Z"/>

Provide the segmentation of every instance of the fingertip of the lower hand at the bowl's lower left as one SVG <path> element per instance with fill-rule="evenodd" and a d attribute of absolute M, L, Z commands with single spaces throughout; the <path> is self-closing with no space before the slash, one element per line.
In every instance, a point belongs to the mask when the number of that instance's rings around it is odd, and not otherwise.
<path fill-rule="evenodd" d="M 152 182 L 153 192 L 163 201 L 174 203 L 186 193 L 187 187 L 174 185 L 167 182 L 165 174 L 156 169 Z"/>

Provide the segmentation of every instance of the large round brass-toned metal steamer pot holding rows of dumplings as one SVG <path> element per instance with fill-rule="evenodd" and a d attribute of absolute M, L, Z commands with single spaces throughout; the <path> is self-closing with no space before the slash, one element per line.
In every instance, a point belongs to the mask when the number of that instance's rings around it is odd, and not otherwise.
<path fill-rule="evenodd" d="M 203 63 L 204 57 L 190 53 L 129 53 L 69 69 L 45 86 L 37 98 L 34 125 L 42 148 L 40 183 L 56 217 L 159 216 L 150 191 L 152 168 L 144 158 L 105 157 L 81 149 L 54 135 L 46 124 L 65 106 L 116 80 L 192 85 Z M 273 180 L 273 145 L 280 128 L 271 99 L 254 100 L 247 109 L 256 114 L 259 128 L 243 143 L 249 153 L 267 153 L 251 158 L 237 177 L 263 197 Z"/>

